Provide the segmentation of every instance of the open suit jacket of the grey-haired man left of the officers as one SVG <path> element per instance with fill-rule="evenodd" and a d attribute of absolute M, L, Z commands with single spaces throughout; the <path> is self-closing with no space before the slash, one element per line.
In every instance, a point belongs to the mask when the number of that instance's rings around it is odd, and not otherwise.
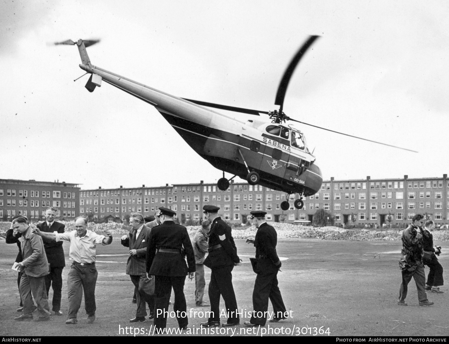
<path fill-rule="evenodd" d="M 143 226 L 139 236 L 136 237 L 137 230 L 134 228 L 129 232 L 128 238 L 122 240 L 122 245 L 129 247 L 130 250 L 136 250 L 134 256 L 129 256 L 126 262 L 126 274 L 128 275 L 145 275 L 146 274 L 146 247 L 150 237 L 151 229 Z"/>

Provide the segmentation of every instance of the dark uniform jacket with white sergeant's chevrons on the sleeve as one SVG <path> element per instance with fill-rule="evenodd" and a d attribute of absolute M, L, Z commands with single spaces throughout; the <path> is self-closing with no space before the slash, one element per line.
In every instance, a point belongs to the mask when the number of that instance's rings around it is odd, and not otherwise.
<path fill-rule="evenodd" d="M 208 268 L 216 268 L 220 266 L 233 266 L 240 262 L 237 255 L 237 248 L 231 235 L 231 228 L 220 217 L 215 218 L 211 223 L 209 231 L 209 254 L 207 255 L 204 265 Z M 220 248 L 214 248 L 216 245 Z"/>

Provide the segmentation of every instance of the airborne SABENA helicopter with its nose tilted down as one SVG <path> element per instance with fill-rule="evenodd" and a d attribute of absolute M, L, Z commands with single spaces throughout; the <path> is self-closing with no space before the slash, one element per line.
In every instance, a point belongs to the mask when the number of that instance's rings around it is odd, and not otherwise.
<path fill-rule="evenodd" d="M 315 164 L 315 156 L 309 151 L 303 132 L 291 124 L 286 124 L 286 121 L 312 125 L 291 119 L 282 111 L 287 86 L 295 67 L 318 37 L 309 36 L 287 67 L 275 100 L 275 105 L 280 108 L 274 111 L 244 109 L 180 98 L 94 66 L 89 60 L 86 47 L 97 43 L 98 40 L 79 39 L 75 43 L 69 39 L 55 44 L 78 46 L 82 61 L 79 67 L 85 70 L 86 74 L 91 74 L 85 86 L 88 91 L 93 92 L 104 81 L 154 106 L 195 152 L 223 171 L 223 177 L 217 183 L 220 190 L 227 190 L 229 181 L 238 176 L 247 179 L 251 185 L 260 184 L 286 192 L 287 200 L 281 203 L 281 209 L 287 210 L 290 208 L 288 200 L 291 194 L 299 194 L 294 205 L 296 209 L 302 209 L 302 198 L 317 193 L 322 183 L 321 170 Z M 209 108 L 257 116 L 265 114 L 268 118 L 260 116 L 257 119 L 238 120 Z M 225 178 L 225 172 L 233 174 L 233 177 Z"/>

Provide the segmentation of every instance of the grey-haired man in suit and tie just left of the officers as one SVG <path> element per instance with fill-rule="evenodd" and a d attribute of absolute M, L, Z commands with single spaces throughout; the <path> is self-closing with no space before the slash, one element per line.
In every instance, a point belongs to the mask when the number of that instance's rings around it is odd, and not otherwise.
<path fill-rule="evenodd" d="M 136 317 L 129 322 L 144 322 L 146 304 L 150 306 L 150 319 L 154 317 L 154 281 L 146 277 L 146 246 L 151 229 L 144 225 L 144 218 L 139 213 L 134 213 L 129 218 L 132 229 L 128 235 L 122 236 L 122 245 L 129 247 L 129 257 L 126 263 L 126 274 L 131 277 L 136 293 Z M 150 290 L 152 289 L 152 290 Z"/>

